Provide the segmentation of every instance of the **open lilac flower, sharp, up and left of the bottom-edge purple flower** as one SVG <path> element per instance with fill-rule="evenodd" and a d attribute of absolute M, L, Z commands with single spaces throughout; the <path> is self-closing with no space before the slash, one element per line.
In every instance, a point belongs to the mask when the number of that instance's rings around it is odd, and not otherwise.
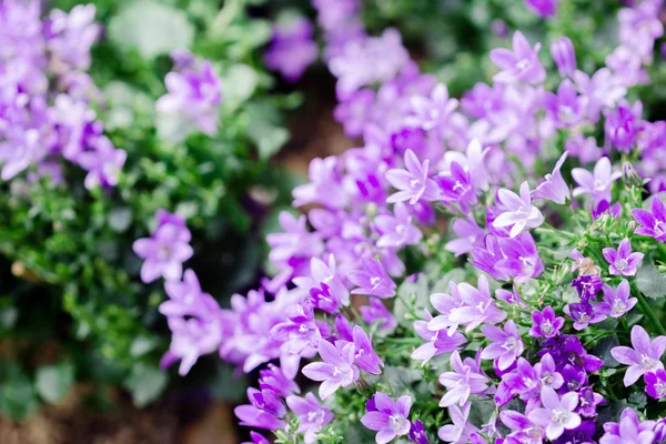
<path fill-rule="evenodd" d="M 324 362 L 307 364 L 302 372 L 313 381 L 322 381 L 319 389 L 322 400 L 331 396 L 341 386 L 346 387 L 359 380 L 359 367 L 354 365 L 353 343 L 346 343 L 337 349 L 327 341 L 320 341 L 319 354 Z"/>

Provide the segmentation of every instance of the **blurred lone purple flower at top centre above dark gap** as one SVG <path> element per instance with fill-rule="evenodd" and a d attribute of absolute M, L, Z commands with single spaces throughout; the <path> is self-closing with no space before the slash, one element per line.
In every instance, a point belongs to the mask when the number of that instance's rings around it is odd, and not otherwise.
<path fill-rule="evenodd" d="M 273 28 L 273 37 L 264 54 L 265 65 L 295 82 L 317 57 L 312 41 L 312 23 L 303 17 L 282 17 Z"/>

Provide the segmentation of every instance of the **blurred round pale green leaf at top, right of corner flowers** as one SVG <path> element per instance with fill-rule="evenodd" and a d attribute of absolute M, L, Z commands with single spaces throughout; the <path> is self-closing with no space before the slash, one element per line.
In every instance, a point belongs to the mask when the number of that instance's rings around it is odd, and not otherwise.
<path fill-rule="evenodd" d="M 194 28 L 188 16 L 154 0 L 128 2 L 109 22 L 109 39 L 124 50 L 135 49 L 147 60 L 189 48 Z"/>

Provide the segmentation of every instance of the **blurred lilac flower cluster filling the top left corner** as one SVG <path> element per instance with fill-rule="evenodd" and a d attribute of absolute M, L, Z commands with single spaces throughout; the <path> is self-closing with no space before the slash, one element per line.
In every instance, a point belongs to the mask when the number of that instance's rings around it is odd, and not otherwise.
<path fill-rule="evenodd" d="M 112 188 L 127 153 L 103 134 L 87 70 L 100 33 L 93 4 L 41 19 L 39 1 L 0 4 L 0 176 L 64 180 L 61 160 L 88 172 L 85 188 Z"/>

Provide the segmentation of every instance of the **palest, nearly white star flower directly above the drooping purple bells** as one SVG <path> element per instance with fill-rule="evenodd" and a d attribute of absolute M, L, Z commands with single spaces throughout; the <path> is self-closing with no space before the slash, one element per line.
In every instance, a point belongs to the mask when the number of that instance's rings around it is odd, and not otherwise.
<path fill-rule="evenodd" d="M 516 238 L 525 228 L 534 229 L 544 223 L 544 215 L 532 204 L 529 184 L 526 181 L 521 185 L 519 196 L 505 188 L 500 189 L 497 196 L 504 212 L 495 219 L 493 226 L 511 226 L 511 238 Z"/>

